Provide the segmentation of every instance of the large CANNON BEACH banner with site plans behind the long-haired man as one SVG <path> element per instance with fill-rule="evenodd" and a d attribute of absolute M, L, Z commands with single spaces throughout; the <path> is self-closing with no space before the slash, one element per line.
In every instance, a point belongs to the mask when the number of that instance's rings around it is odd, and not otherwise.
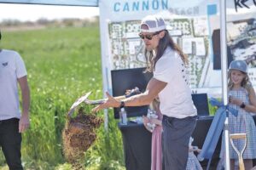
<path fill-rule="evenodd" d="M 256 0 L 227 4 L 228 62 L 244 59 L 256 86 Z M 189 56 L 194 93 L 221 95 L 219 0 L 108 0 L 100 1 L 102 71 L 111 92 L 110 71 L 145 66 L 140 21 L 160 14 L 173 40 Z"/>

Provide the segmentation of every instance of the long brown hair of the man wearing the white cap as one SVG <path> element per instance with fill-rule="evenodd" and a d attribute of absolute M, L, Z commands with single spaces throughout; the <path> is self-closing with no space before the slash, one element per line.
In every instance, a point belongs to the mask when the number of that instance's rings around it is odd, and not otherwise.
<path fill-rule="evenodd" d="M 183 54 L 183 51 L 177 46 L 175 42 L 173 42 L 172 37 L 169 35 L 169 32 L 165 31 L 165 36 L 160 39 L 160 42 L 157 46 L 157 54 L 154 55 L 154 51 L 148 51 L 145 48 L 145 57 L 147 62 L 147 68 L 146 71 L 152 72 L 154 71 L 155 63 L 158 61 L 158 59 L 161 58 L 161 56 L 164 54 L 166 48 L 170 46 L 173 50 L 177 52 L 177 54 L 180 55 L 181 59 L 183 60 L 184 65 L 189 65 L 189 60 L 187 55 Z M 158 32 L 160 33 L 160 31 Z"/>

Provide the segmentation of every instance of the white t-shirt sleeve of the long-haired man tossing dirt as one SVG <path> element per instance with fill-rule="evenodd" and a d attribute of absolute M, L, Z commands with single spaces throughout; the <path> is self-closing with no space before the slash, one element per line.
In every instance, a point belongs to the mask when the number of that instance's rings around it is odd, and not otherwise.
<path fill-rule="evenodd" d="M 172 82 L 177 71 L 176 63 L 172 57 L 160 58 L 155 65 L 154 78 L 161 82 Z"/>

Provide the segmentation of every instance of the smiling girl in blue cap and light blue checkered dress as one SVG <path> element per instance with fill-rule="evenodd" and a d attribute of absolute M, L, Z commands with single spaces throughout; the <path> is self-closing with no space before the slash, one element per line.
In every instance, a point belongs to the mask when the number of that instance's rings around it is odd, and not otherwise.
<path fill-rule="evenodd" d="M 256 112 L 256 98 L 254 89 L 249 82 L 247 75 L 247 63 L 243 60 L 233 60 L 230 63 L 228 77 L 229 106 L 238 111 L 238 116 L 229 116 L 229 129 L 232 133 L 247 133 L 247 148 L 243 153 L 245 169 L 253 167 L 253 159 L 256 158 L 256 128 L 251 113 Z M 234 140 L 238 150 L 241 150 L 245 144 L 244 139 Z M 222 147 L 220 158 L 223 160 L 224 136 L 222 138 Z M 230 144 L 230 169 L 235 168 L 235 161 L 238 160 L 236 151 Z"/>

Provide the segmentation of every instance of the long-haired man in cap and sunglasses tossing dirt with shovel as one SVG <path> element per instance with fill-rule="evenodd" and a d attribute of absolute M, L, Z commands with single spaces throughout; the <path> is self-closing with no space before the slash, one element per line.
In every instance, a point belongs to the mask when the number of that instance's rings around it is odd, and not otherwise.
<path fill-rule="evenodd" d="M 160 98 L 162 120 L 163 169 L 186 169 L 189 156 L 189 138 L 194 131 L 197 111 L 191 97 L 186 55 L 172 41 L 166 31 L 165 21 L 157 15 L 148 15 L 142 20 L 139 37 L 145 44 L 148 71 L 154 77 L 148 82 L 146 91 L 126 99 L 108 99 L 93 111 L 108 107 L 149 105 Z"/>

